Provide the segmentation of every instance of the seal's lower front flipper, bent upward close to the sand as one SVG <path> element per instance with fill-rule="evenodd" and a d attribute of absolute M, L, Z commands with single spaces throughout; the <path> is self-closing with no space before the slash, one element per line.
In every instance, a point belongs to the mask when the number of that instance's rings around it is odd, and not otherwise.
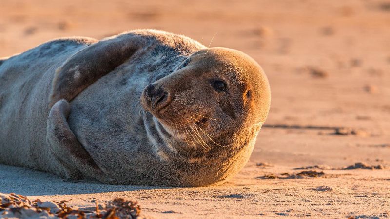
<path fill-rule="evenodd" d="M 71 179 L 80 179 L 82 176 L 86 176 L 110 183 L 70 130 L 67 122 L 69 112 L 69 103 L 65 100 L 59 100 L 51 108 L 47 119 L 46 139 L 50 152 L 58 161 L 60 175 Z"/>

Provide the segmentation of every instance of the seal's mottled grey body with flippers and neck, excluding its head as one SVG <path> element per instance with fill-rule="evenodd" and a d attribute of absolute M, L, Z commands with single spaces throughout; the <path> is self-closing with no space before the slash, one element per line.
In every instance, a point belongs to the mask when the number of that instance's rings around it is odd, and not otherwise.
<path fill-rule="evenodd" d="M 148 84 L 205 49 L 181 35 L 138 30 L 99 42 L 58 39 L 1 60 L 0 162 L 112 184 L 223 181 L 247 162 L 264 113 L 224 135 L 226 148 L 177 151 L 168 144 L 182 143 L 139 104 Z"/>

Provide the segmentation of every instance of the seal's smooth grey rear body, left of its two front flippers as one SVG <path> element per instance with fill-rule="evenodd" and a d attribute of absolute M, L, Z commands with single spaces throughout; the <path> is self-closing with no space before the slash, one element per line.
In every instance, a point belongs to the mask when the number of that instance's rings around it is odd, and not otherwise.
<path fill-rule="evenodd" d="M 58 171 L 46 142 L 55 71 L 93 39 L 59 39 L 0 61 L 0 162 Z"/>

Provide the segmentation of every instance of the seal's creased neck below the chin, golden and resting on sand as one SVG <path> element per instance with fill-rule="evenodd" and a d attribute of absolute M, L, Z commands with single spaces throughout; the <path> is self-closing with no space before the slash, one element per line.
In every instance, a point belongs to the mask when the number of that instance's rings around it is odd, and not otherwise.
<path fill-rule="evenodd" d="M 176 139 L 157 118 L 150 113 L 144 116 L 151 153 L 161 161 L 162 167 L 180 175 L 188 186 L 210 185 L 234 175 L 247 163 L 253 150 L 258 129 L 243 129 L 240 133 L 226 133 L 215 141 L 224 147 L 213 146 L 203 150 L 190 147 Z"/>

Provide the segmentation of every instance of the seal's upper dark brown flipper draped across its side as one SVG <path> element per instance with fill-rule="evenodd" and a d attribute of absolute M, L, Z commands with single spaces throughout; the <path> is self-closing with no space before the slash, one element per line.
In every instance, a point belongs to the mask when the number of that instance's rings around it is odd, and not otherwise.
<path fill-rule="evenodd" d="M 78 51 L 56 70 L 49 106 L 52 107 L 60 99 L 71 101 L 90 84 L 145 48 L 146 43 L 145 38 L 127 33 L 101 40 Z"/>

